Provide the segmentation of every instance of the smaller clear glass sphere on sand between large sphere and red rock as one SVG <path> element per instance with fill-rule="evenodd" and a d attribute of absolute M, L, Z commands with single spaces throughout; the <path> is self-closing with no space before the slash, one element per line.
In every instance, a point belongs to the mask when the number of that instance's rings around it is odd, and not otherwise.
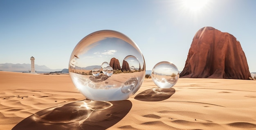
<path fill-rule="evenodd" d="M 173 63 L 162 61 L 153 67 L 151 78 L 158 87 L 171 88 L 179 80 L 180 73 Z"/>

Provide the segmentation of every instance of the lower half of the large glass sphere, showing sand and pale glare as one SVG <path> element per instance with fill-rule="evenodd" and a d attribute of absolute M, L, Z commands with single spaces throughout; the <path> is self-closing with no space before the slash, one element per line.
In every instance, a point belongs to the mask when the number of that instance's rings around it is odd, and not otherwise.
<path fill-rule="evenodd" d="M 137 76 L 134 76 L 134 74 Z M 86 95 L 86 98 L 90 99 L 93 98 L 93 96 L 97 96 L 99 99 L 108 101 L 115 98 L 128 99 L 129 96 L 137 92 L 136 88 L 138 89 L 138 85 L 142 84 L 140 77 L 144 75 L 140 72 L 113 74 L 110 77 L 101 74 L 101 77 L 97 76 L 99 77 L 98 80 L 95 76 L 81 75 L 72 72 L 70 72 L 70 76 L 74 77 L 74 84 L 83 95 Z M 129 82 L 131 79 L 133 79 L 133 81 Z M 133 88 L 128 87 L 130 85 L 133 85 Z"/>

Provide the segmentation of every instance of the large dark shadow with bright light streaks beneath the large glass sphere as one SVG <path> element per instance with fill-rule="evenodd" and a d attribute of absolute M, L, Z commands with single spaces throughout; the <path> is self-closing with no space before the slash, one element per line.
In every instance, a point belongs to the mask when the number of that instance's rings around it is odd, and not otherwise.
<path fill-rule="evenodd" d="M 105 130 L 132 108 L 129 100 L 83 100 L 47 108 L 22 120 L 12 130 Z"/>

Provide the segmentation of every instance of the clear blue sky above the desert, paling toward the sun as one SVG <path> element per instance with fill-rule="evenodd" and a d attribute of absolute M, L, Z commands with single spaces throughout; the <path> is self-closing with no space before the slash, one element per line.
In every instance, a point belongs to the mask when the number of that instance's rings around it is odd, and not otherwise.
<path fill-rule="evenodd" d="M 256 72 L 256 0 L 0 0 L 0 63 L 68 68 L 88 34 L 119 31 L 137 43 L 146 69 L 170 61 L 181 71 L 195 33 L 205 26 L 234 35 Z"/>

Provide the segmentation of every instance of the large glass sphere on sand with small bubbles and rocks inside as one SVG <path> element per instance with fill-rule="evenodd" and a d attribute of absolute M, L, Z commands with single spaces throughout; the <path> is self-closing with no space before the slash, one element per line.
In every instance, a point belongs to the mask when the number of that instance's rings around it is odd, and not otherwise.
<path fill-rule="evenodd" d="M 139 47 L 118 31 L 101 30 L 85 36 L 70 56 L 70 77 L 90 100 L 128 99 L 139 90 L 145 72 Z"/>

